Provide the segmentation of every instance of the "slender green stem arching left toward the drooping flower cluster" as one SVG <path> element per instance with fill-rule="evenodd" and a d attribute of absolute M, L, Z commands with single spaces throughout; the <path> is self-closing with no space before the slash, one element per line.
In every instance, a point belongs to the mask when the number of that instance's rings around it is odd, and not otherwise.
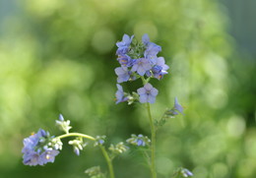
<path fill-rule="evenodd" d="M 81 138 L 85 138 L 85 139 L 89 139 L 91 141 L 96 141 L 96 139 L 92 136 L 89 135 L 85 135 L 85 134 L 80 134 L 80 133 L 67 133 L 67 134 L 63 134 L 61 136 L 56 137 L 56 139 L 64 139 L 64 138 L 68 138 L 68 137 L 81 137 Z M 108 166 L 108 171 L 110 174 L 110 178 L 114 178 L 114 171 L 113 171 L 113 165 L 112 165 L 112 160 L 109 158 L 107 151 L 105 150 L 104 147 L 102 147 L 101 145 L 99 145 L 99 148 L 102 151 L 102 154 L 106 160 L 107 166 Z"/>

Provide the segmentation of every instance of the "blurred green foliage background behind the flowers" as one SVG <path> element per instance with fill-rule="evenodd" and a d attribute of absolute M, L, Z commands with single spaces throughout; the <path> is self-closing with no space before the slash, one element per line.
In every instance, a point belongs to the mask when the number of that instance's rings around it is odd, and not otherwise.
<path fill-rule="evenodd" d="M 23 139 L 39 128 L 61 134 L 54 125 L 59 113 L 73 131 L 106 135 L 108 143 L 150 135 L 143 107 L 115 105 L 113 71 L 123 33 L 149 33 L 170 66 L 154 82 L 160 90 L 154 117 L 174 96 L 186 108 L 158 133 L 160 178 L 178 166 L 196 178 L 255 178 L 256 25 L 249 10 L 256 4 L 250 2 L 245 10 L 228 0 L 0 1 L 0 177 L 80 178 L 91 166 L 106 170 L 93 146 L 78 157 L 65 145 L 53 164 L 23 165 Z M 250 21 L 254 27 L 243 26 Z M 114 166 L 119 178 L 150 177 L 134 149 Z"/>

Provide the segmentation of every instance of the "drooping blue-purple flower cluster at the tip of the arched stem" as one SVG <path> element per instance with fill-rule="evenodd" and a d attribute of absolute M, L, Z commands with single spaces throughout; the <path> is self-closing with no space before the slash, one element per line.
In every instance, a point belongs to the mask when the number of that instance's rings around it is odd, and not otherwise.
<path fill-rule="evenodd" d="M 61 149 L 62 143 L 53 144 L 49 142 L 52 138 L 48 132 L 39 129 L 36 134 L 24 139 L 24 148 L 22 150 L 24 164 L 43 165 L 47 162 L 53 162 L 55 156 L 59 153 L 57 149 Z"/>

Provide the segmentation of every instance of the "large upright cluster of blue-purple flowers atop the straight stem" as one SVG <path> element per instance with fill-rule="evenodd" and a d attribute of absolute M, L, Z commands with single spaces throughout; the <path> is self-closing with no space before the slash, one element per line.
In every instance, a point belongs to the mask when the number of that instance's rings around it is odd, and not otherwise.
<path fill-rule="evenodd" d="M 148 82 L 151 78 L 162 79 L 169 68 L 164 58 L 158 57 L 160 45 L 151 42 L 148 34 L 143 35 L 142 42 L 135 40 L 134 35 L 130 37 L 124 34 L 122 41 L 117 42 L 116 45 L 117 61 L 120 64 L 120 67 L 115 69 L 118 83 L 115 93 L 116 103 L 134 100 L 137 95 L 127 94 L 119 84 L 137 79 L 144 81 L 144 87 L 137 89 L 138 100 L 141 103 L 154 103 L 159 91 Z"/>

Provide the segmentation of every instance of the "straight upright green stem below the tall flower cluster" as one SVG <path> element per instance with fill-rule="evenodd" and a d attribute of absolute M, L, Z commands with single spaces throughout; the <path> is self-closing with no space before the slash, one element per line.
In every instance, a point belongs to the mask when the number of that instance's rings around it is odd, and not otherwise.
<path fill-rule="evenodd" d="M 153 178 L 157 178 L 157 171 L 156 171 L 156 128 L 154 125 L 153 117 L 151 114 L 151 105 L 149 102 L 146 103 L 148 115 L 150 118 L 150 124 L 151 124 L 151 173 Z"/>

